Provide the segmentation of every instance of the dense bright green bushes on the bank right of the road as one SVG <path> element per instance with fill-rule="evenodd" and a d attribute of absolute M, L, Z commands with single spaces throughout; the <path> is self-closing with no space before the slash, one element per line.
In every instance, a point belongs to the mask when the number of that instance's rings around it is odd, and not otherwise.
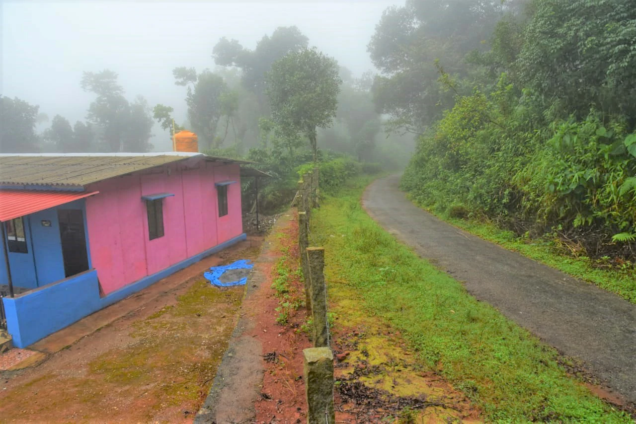
<path fill-rule="evenodd" d="M 420 139 L 403 188 L 426 207 L 467 209 L 519 234 L 558 231 L 589 256 L 633 256 L 636 133 L 593 113 L 533 134 L 502 119 L 492 97 L 457 100 Z"/>

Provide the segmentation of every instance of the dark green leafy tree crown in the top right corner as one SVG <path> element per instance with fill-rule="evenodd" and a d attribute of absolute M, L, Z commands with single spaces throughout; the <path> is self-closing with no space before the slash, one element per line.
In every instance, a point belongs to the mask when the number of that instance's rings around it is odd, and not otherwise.
<path fill-rule="evenodd" d="M 558 102 L 555 118 L 585 118 L 594 107 L 627 116 L 635 128 L 636 3 L 537 0 L 534 7 L 515 63 L 521 83 L 541 106 Z"/>

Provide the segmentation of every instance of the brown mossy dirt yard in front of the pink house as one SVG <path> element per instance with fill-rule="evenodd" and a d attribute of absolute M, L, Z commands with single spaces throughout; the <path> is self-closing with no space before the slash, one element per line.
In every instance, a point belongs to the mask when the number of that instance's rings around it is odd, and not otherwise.
<path fill-rule="evenodd" d="M 0 374 L 0 421 L 191 422 L 244 294 L 202 273 L 255 259 L 261 241 L 238 243 L 36 343 L 45 362 Z M 109 324 L 95 331 L 100 317 Z M 85 327 L 93 328 L 86 336 Z"/>

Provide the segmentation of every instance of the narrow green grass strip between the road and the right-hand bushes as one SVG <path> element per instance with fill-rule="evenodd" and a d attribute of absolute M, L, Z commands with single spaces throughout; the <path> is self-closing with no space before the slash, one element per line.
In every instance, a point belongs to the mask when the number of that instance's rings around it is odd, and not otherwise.
<path fill-rule="evenodd" d="M 593 266 L 593 261 L 588 257 L 563 254 L 556 249 L 555 242 L 551 240 L 517 237 L 512 231 L 497 228 L 488 222 L 457 219 L 439 213 L 436 213 L 436 216 L 484 240 L 519 252 L 523 256 L 556 268 L 572 277 L 598 285 L 636 304 L 636 271 L 633 266 L 626 266 L 624 270 L 598 268 Z"/>

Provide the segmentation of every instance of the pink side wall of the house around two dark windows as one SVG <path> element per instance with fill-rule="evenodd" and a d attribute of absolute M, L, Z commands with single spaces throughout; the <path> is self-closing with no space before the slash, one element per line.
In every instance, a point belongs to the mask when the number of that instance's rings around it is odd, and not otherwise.
<path fill-rule="evenodd" d="M 99 191 L 86 199 L 86 221 L 90 256 L 104 294 L 242 233 L 239 165 L 183 162 L 87 188 Z M 228 215 L 219 218 L 214 182 L 221 181 L 236 182 L 228 186 Z M 141 196 L 155 193 L 174 196 L 162 200 L 163 237 L 149 240 Z"/>

